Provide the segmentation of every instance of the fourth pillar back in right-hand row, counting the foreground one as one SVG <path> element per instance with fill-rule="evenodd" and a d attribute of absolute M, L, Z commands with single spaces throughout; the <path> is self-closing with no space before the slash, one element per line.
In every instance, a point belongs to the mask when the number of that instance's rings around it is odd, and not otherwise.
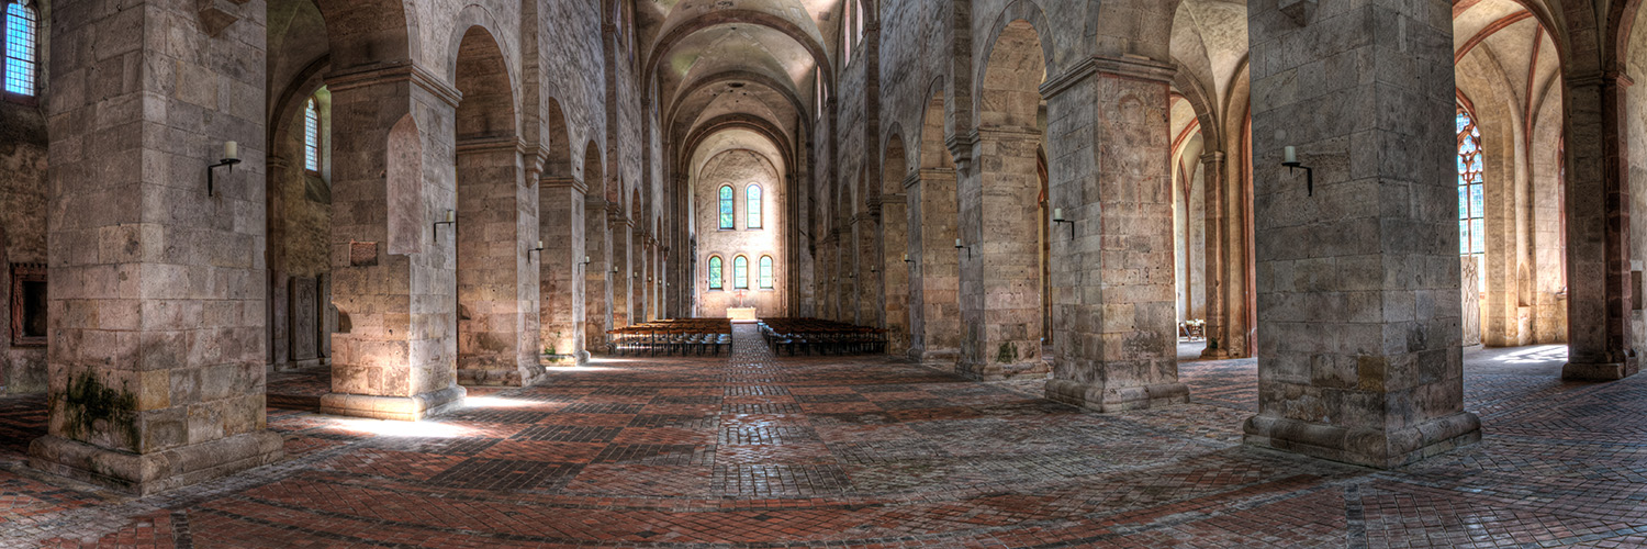
<path fill-rule="evenodd" d="M 909 193 L 909 358 L 954 368 L 960 354 L 960 256 L 955 251 L 955 170 L 917 173 Z"/>

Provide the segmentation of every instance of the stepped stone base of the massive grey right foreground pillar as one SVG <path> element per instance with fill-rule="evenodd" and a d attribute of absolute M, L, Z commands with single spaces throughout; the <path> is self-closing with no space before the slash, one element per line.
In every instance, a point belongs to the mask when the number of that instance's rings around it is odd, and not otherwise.
<path fill-rule="evenodd" d="M 1374 468 L 1397 468 L 1481 442 L 1481 419 L 1471 412 L 1388 432 L 1258 414 L 1247 419 L 1243 430 L 1247 445 Z"/>

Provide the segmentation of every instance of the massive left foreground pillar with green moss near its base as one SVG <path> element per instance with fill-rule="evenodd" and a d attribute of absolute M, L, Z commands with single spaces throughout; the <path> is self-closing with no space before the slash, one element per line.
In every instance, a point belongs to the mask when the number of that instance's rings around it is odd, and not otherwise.
<path fill-rule="evenodd" d="M 56 10 L 49 411 L 30 465 L 150 495 L 273 463 L 265 5 L 237 5 L 244 18 L 212 35 L 194 2 Z M 244 163 L 219 168 L 208 196 L 227 140 Z"/>

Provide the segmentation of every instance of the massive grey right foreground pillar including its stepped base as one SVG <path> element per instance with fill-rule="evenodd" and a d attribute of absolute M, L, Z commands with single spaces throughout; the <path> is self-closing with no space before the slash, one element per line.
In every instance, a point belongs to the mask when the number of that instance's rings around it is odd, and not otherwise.
<path fill-rule="evenodd" d="M 1250 3 L 1253 58 L 1271 59 L 1252 68 L 1270 99 L 1252 115 L 1250 445 L 1388 468 L 1481 439 L 1463 411 L 1449 15 L 1448 0 L 1314 18 Z M 1280 167 L 1286 145 L 1314 167 L 1314 196 Z"/>

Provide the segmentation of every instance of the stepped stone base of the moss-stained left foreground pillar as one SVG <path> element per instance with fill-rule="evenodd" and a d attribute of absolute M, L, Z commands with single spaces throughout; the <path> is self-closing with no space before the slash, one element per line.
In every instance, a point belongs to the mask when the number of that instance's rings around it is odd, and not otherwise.
<path fill-rule="evenodd" d="M 152 453 L 132 453 L 46 435 L 28 445 L 28 465 L 114 490 L 148 496 L 285 458 L 283 439 L 257 430 Z"/>

